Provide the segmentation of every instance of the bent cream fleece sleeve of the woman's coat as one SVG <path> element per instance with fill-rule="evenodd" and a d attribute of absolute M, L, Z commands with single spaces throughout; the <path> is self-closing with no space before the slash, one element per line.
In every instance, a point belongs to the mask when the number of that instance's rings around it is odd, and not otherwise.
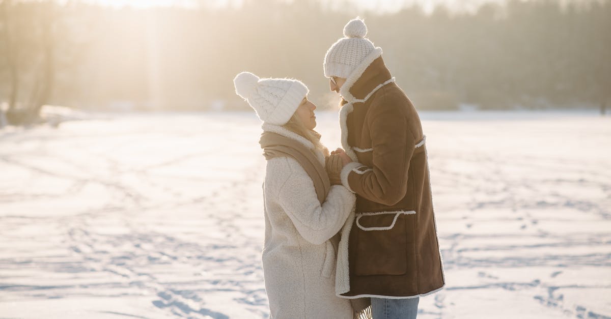
<path fill-rule="evenodd" d="M 332 185 L 321 205 L 312 180 L 301 166 L 292 169 L 278 194 L 280 207 L 299 234 L 312 244 L 323 244 L 342 229 L 355 200 L 354 194 L 344 186 Z"/>

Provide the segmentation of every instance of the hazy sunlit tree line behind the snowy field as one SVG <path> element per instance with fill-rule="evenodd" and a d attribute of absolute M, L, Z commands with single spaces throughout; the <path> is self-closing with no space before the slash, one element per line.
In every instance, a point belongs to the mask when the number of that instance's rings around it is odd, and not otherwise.
<path fill-rule="evenodd" d="M 0 0 L 0 103 L 20 114 L 15 121 L 31 120 L 45 104 L 245 109 L 232 79 L 249 70 L 301 79 L 320 108 L 334 108 L 324 53 L 356 15 L 419 109 L 591 108 L 611 100 L 609 1 L 513 0 L 430 14 L 359 12 L 348 1 L 200 3 Z"/>

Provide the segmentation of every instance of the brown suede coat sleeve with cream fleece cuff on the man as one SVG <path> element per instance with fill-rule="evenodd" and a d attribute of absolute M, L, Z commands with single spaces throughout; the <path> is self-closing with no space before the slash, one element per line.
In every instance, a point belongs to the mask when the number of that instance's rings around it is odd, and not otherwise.
<path fill-rule="evenodd" d="M 385 101 L 386 102 L 386 101 Z M 415 138 L 400 103 L 382 103 L 371 109 L 367 123 L 373 167 L 349 163 L 342 169 L 342 184 L 365 199 L 395 205 L 405 197 L 409 161 Z"/>

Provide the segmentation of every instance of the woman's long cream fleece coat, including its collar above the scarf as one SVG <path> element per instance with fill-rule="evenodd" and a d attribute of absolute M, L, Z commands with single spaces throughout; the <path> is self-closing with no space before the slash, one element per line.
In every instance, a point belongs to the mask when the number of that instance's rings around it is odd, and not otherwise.
<path fill-rule="evenodd" d="M 263 130 L 295 139 L 302 136 L 277 125 Z M 324 156 L 316 151 L 324 165 Z M 335 295 L 336 253 L 329 239 L 353 213 L 356 197 L 332 185 L 321 205 L 314 184 L 293 158 L 267 162 L 263 183 L 265 244 L 262 252 L 270 318 L 353 318 L 348 299 Z"/>

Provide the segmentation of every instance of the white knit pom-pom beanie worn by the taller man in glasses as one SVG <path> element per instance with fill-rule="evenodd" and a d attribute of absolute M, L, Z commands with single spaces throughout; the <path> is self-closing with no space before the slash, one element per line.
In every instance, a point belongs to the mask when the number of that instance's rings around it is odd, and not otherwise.
<path fill-rule="evenodd" d="M 373 51 L 377 49 L 381 52 L 369 39 L 365 39 L 365 35 L 367 26 L 363 20 L 356 18 L 348 21 L 344 26 L 345 37 L 333 43 L 324 56 L 324 76 L 348 78 Z"/>

